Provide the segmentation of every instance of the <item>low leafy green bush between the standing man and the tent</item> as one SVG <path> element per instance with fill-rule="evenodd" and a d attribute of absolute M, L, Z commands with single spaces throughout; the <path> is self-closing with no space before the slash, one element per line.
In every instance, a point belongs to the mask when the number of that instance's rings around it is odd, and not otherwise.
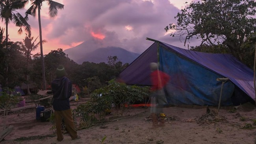
<path fill-rule="evenodd" d="M 82 116 L 80 127 L 87 128 L 96 121 L 104 120 L 106 113 L 111 111 L 112 103 L 123 109 L 124 103 L 134 103 L 148 95 L 149 87 L 128 86 L 112 79 L 107 86 L 96 89 L 87 103 L 78 105 L 74 114 Z"/>

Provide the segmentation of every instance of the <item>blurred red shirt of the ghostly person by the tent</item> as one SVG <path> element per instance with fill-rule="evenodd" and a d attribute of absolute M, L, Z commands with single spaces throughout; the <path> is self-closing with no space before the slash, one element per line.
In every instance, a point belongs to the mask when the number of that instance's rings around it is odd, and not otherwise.
<path fill-rule="evenodd" d="M 152 87 L 151 90 L 160 90 L 168 83 L 170 76 L 160 70 L 155 70 L 150 74 Z"/>

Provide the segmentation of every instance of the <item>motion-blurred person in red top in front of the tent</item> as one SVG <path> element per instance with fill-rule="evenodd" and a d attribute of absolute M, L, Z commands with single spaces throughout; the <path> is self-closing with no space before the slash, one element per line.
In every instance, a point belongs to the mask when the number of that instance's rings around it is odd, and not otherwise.
<path fill-rule="evenodd" d="M 164 87 L 167 85 L 167 83 L 170 80 L 170 76 L 166 74 L 165 72 L 162 72 L 161 70 L 158 69 L 158 64 L 157 63 L 150 63 L 150 79 L 151 79 L 151 98 L 150 98 L 150 103 L 151 103 L 151 116 L 152 116 L 152 121 L 153 121 L 153 127 L 156 126 L 165 126 L 164 122 L 164 116 L 165 114 L 163 113 L 163 106 L 167 104 L 165 92 L 164 92 Z M 160 116 L 160 120 L 158 120 L 158 114 Z M 158 122 L 160 124 L 158 125 Z"/>

